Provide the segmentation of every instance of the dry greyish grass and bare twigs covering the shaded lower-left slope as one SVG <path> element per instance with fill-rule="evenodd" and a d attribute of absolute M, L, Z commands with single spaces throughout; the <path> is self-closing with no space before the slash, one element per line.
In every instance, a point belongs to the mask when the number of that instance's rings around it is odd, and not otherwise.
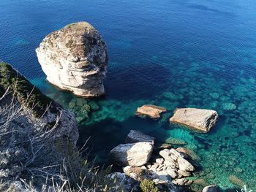
<path fill-rule="evenodd" d="M 67 139 L 53 140 L 40 119 L 15 99 L 9 89 L 0 96 L 0 191 L 121 191 L 115 180 L 82 158 Z"/>

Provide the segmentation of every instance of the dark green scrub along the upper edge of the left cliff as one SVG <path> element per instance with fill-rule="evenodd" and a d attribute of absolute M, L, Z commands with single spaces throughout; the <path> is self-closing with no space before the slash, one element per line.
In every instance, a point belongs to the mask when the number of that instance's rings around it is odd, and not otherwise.
<path fill-rule="evenodd" d="M 43 115 L 52 100 L 43 95 L 38 88 L 26 80 L 22 74 L 17 72 L 10 64 L 0 63 L 0 94 L 10 88 L 10 93 L 18 99 L 20 104 L 28 107 L 36 117 Z M 52 111 L 51 111 L 52 112 Z"/>

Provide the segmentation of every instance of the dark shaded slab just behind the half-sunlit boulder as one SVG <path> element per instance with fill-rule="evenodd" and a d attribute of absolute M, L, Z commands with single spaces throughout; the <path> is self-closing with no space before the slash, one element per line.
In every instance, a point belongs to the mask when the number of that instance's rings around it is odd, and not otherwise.
<path fill-rule="evenodd" d="M 140 131 L 137 130 L 131 130 L 129 131 L 129 134 L 127 135 L 127 139 L 125 140 L 127 143 L 133 143 L 133 142 L 151 142 L 154 145 L 154 137 L 148 136 L 146 134 L 143 134 Z"/>

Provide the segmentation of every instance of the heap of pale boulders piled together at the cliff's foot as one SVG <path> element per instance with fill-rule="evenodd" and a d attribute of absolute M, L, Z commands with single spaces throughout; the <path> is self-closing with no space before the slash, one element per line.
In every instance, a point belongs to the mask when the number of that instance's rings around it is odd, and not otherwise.
<path fill-rule="evenodd" d="M 123 167 L 124 174 L 135 181 L 153 180 L 160 186 L 172 191 L 184 190 L 184 185 L 191 184 L 187 180 L 195 172 L 192 157 L 167 145 L 157 147 L 154 137 L 140 131 L 131 130 L 127 135 L 126 144 L 121 144 L 110 151 L 110 162 Z M 120 176 L 120 173 L 119 173 Z M 133 185 L 135 190 L 136 185 Z"/>

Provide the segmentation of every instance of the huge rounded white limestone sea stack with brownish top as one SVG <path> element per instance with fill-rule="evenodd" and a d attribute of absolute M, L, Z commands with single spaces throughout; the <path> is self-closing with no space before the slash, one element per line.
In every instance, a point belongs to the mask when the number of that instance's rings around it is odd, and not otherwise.
<path fill-rule="evenodd" d="M 105 93 L 107 49 L 99 32 L 89 23 L 72 23 L 48 34 L 36 52 L 53 85 L 78 96 Z"/>

